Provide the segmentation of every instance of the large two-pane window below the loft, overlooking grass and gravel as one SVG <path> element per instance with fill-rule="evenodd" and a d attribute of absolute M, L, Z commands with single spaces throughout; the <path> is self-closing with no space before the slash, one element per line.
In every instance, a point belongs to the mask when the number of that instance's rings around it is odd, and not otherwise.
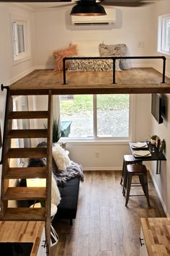
<path fill-rule="evenodd" d="M 130 95 L 61 95 L 62 137 L 128 139 Z"/>

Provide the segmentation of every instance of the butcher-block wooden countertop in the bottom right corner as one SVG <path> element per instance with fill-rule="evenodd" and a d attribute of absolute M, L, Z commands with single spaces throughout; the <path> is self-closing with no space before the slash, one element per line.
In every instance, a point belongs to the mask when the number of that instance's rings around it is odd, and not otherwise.
<path fill-rule="evenodd" d="M 149 256 L 170 255 L 170 218 L 141 218 Z"/>

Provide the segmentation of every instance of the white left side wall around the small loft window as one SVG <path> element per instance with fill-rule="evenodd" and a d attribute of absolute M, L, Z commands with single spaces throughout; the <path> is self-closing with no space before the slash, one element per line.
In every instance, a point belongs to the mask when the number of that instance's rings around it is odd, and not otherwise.
<path fill-rule="evenodd" d="M 31 57 L 29 60 L 21 64 L 14 65 L 12 59 L 12 33 L 11 33 L 11 14 L 17 14 L 22 17 L 27 17 L 30 20 L 31 27 Z M 12 7 L 9 4 L 0 3 L 0 83 L 9 85 L 17 80 L 21 75 L 27 74 L 34 67 L 34 15 L 32 12 L 26 12 L 23 9 Z M 4 113 L 6 103 L 6 90 L 0 90 L 0 122 L 1 133 L 4 129 Z M 1 155 L 1 150 L 0 150 Z M 1 166 L 0 166 L 1 176 Z M 1 184 L 0 184 L 1 186 Z"/>

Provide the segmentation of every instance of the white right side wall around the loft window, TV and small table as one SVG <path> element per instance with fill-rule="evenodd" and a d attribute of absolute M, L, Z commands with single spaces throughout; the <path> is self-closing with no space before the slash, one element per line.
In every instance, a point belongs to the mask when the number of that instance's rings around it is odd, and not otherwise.
<path fill-rule="evenodd" d="M 158 16 L 163 14 L 170 14 L 170 4 L 169 0 L 158 1 L 156 4 L 156 9 L 153 15 L 153 23 L 157 25 Z M 157 30 L 153 30 L 153 52 L 157 53 Z M 167 67 L 166 70 L 169 71 L 170 68 L 170 56 L 167 59 Z M 170 102 L 170 95 L 167 95 Z M 153 179 L 155 181 L 156 187 L 158 189 L 158 193 L 161 197 L 161 200 L 164 204 L 164 209 L 167 213 L 170 214 L 170 104 L 168 104 L 168 119 L 164 120 L 163 124 L 156 123 L 155 119 L 151 119 L 152 122 L 152 134 L 158 135 L 161 140 L 166 140 L 166 161 L 161 162 L 161 175 L 156 174 L 156 164 L 153 163 L 151 168 L 151 174 L 153 175 Z"/>

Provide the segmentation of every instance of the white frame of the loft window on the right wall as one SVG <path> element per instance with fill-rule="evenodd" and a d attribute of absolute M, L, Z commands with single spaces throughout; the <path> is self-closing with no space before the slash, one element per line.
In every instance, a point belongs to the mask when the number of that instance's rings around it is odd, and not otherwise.
<path fill-rule="evenodd" d="M 166 38 L 166 30 L 167 30 L 165 23 L 167 19 L 170 20 L 170 14 L 161 15 L 158 17 L 158 52 L 160 52 L 161 54 L 166 54 L 167 56 L 170 56 L 170 47 L 168 51 L 164 48 L 164 44 L 165 44 L 164 38 Z"/>

